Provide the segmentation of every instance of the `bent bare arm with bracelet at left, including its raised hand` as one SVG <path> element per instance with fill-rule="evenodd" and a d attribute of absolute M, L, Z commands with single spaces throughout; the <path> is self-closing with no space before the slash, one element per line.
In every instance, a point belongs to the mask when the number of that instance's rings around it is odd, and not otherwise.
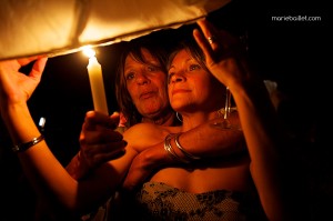
<path fill-rule="evenodd" d="M 3 122 L 14 144 L 27 143 L 40 137 L 38 127 L 30 115 L 27 104 L 40 82 L 47 59 L 30 58 L 0 62 L 0 111 Z M 22 66 L 36 60 L 29 74 L 19 72 Z M 93 121 L 87 115 L 84 128 Z M 94 137 L 90 137 L 91 140 Z M 22 169 L 43 200 L 59 205 L 67 212 L 90 211 L 95 203 L 107 199 L 109 193 L 121 183 L 132 158 L 137 152 L 128 148 L 119 160 L 110 162 L 84 181 L 72 179 L 47 145 L 41 142 L 26 151 L 18 152 Z"/>

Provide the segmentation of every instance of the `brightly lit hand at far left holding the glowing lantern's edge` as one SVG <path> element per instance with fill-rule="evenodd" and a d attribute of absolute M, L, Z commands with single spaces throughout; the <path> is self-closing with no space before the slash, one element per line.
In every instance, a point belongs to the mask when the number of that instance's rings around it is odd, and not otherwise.
<path fill-rule="evenodd" d="M 30 57 L 18 60 L 0 61 L 0 104 L 27 102 L 40 82 L 48 58 Z M 36 61 L 31 71 L 26 74 L 20 68 Z"/>

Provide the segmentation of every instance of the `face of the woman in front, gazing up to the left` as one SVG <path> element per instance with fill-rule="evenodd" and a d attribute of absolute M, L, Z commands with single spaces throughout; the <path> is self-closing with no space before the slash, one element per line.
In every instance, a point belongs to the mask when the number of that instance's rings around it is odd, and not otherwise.
<path fill-rule="evenodd" d="M 214 93 L 220 93 L 221 87 L 185 49 L 172 60 L 169 68 L 169 98 L 175 111 L 212 110 L 216 107 L 215 98 L 221 97 Z"/>

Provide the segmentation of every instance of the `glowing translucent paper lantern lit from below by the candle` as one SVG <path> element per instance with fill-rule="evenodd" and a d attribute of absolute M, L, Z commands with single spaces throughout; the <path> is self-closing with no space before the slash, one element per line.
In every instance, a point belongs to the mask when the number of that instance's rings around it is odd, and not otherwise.
<path fill-rule="evenodd" d="M 2 0 L 0 60 L 128 41 L 194 22 L 230 0 Z"/>

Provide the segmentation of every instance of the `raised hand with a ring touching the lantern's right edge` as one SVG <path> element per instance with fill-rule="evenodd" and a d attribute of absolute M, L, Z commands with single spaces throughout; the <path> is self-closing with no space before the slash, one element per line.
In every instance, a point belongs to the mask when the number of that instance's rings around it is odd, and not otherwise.
<path fill-rule="evenodd" d="M 230 90 L 250 78 L 245 60 L 245 48 L 231 33 L 216 30 L 209 21 L 198 21 L 202 32 L 193 31 L 193 37 L 203 50 L 206 66 L 212 74 Z"/>

